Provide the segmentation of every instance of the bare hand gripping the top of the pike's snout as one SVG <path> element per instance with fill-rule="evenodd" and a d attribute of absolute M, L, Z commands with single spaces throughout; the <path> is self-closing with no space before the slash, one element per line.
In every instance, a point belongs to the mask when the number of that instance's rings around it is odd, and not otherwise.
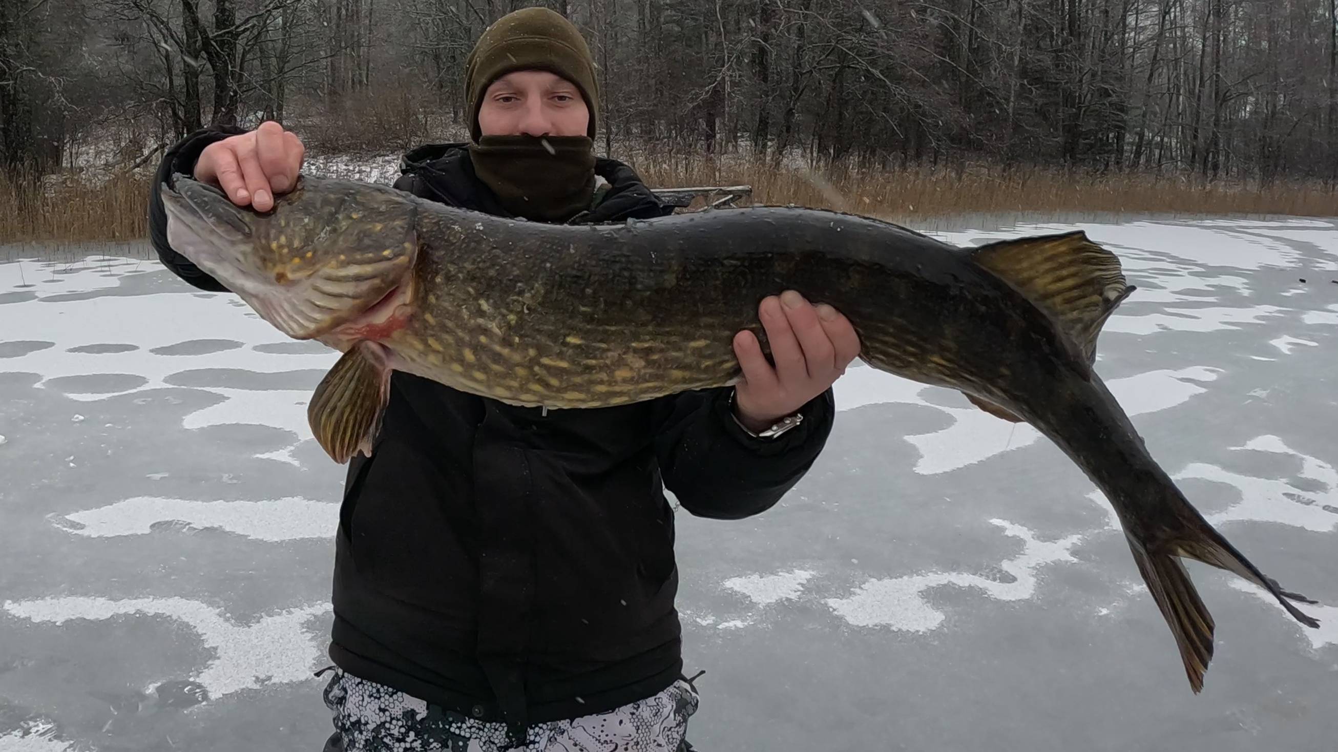
<path fill-rule="evenodd" d="M 254 131 L 206 146 L 195 162 L 195 179 L 223 189 L 238 206 L 269 211 L 274 194 L 297 185 L 305 153 L 296 134 L 265 120 Z"/>

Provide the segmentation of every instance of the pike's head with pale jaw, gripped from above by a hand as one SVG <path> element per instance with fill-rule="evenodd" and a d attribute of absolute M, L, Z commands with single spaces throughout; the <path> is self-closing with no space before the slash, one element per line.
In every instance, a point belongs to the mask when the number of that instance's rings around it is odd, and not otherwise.
<path fill-rule="evenodd" d="M 404 302 L 417 206 L 399 190 L 302 175 L 269 211 L 195 179 L 159 186 L 167 242 L 285 335 L 309 340 Z"/>

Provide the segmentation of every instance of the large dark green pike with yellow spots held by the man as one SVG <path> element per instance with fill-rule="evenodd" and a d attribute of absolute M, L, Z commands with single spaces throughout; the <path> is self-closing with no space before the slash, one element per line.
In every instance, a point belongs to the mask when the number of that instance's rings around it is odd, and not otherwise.
<path fill-rule="evenodd" d="M 1181 558 L 1267 589 L 1318 622 L 1181 495 L 1093 372 L 1135 289 L 1081 231 L 961 249 L 814 209 L 749 207 L 619 225 L 491 217 L 389 187 L 304 177 L 269 213 L 179 179 L 161 187 L 174 249 L 290 337 L 340 352 L 308 415 L 336 462 L 372 452 L 392 369 L 518 405 L 598 408 L 720 387 L 732 340 L 763 341 L 784 289 L 844 313 L 860 357 L 1026 421 L 1119 514 L 1133 559 L 1203 686 L 1214 622 Z"/>

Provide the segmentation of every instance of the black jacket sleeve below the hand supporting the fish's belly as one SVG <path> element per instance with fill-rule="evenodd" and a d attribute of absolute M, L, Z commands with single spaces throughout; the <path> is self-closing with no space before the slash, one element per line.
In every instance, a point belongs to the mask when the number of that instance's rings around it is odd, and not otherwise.
<path fill-rule="evenodd" d="M 836 415 L 827 389 L 800 408 L 799 426 L 759 439 L 735 420 L 732 393 L 684 392 L 660 407 L 656 455 L 665 487 L 697 516 L 743 519 L 775 506 L 812 467 Z"/>

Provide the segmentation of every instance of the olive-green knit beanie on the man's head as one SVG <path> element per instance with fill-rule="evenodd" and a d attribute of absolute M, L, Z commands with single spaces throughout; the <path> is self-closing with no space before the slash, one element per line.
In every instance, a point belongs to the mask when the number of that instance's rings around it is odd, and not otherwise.
<path fill-rule="evenodd" d="M 539 70 L 557 74 L 581 91 L 590 108 L 587 135 L 595 136 L 599 86 L 594 58 L 581 31 L 561 13 L 547 8 L 523 8 L 507 13 L 483 31 L 464 67 L 470 106 L 470 138 L 479 132 L 479 107 L 488 84 L 511 71 Z"/>

